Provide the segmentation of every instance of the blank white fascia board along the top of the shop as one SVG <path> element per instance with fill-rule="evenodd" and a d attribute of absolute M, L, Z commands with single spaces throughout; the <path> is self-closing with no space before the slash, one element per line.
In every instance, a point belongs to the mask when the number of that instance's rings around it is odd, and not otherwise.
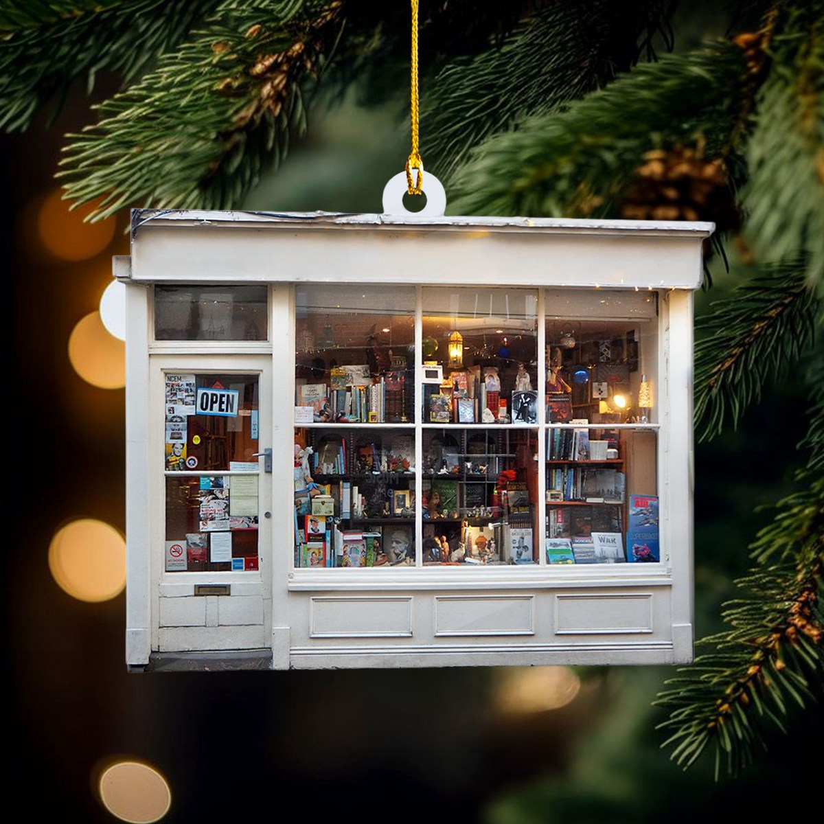
<path fill-rule="evenodd" d="M 700 287 L 705 222 L 136 210 L 143 283 Z"/>

